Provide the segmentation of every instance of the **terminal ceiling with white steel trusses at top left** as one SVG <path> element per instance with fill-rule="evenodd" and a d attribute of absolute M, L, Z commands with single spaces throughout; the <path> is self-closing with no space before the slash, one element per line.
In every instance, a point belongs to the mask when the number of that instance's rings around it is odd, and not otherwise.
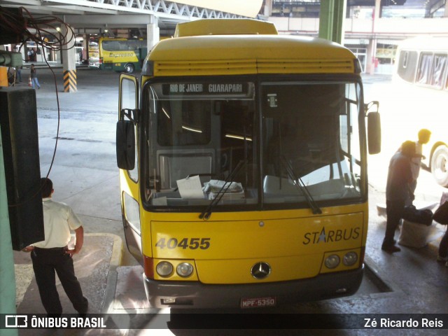
<path fill-rule="evenodd" d="M 144 7 L 138 1 L 113 0 L 0 0 L 5 8 L 25 7 L 31 15 L 62 17 L 76 34 L 97 34 L 99 29 L 140 28 L 156 24 L 160 34 L 173 34 L 179 22 L 199 18 L 255 18 L 262 0 L 148 0 Z"/>

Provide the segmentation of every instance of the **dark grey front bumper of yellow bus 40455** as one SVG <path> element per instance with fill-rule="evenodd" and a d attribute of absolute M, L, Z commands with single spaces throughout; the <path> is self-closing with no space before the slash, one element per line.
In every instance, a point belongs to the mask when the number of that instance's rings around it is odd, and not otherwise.
<path fill-rule="evenodd" d="M 247 297 L 276 297 L 276 304 L 279 305 L 353 295 L 363 279 L 363 271 L 364 267 L 320 274 L 311 279 L 238 285 L 154 281 L 145 274 L 143 276 L 146 297 L 151 307 L 240 308 L 241 299 Z"/>

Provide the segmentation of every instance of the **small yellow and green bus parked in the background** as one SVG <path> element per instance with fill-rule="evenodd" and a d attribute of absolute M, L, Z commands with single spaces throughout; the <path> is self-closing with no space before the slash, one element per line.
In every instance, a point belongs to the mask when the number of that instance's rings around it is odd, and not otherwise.
<path fill-rule="evenodd" d="M 133 73 L 141 69 L 147 51 L 143 39 L 90 38 L 89 67 Z"/>

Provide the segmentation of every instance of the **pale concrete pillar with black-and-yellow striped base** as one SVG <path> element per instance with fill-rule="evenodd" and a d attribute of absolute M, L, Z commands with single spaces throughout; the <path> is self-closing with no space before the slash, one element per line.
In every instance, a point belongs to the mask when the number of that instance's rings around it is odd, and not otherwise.
<path fill-rule="evenodd" d="M 62 50 L 62 68 L 64 69 L 64 92 L 78 91 L 76 83 L 76 50 L 75 36 L 73 31 L 67 29 L 65 25 L 61 27 L 62 36 L 66 36 L 64 43 L 66 45 Z"/>

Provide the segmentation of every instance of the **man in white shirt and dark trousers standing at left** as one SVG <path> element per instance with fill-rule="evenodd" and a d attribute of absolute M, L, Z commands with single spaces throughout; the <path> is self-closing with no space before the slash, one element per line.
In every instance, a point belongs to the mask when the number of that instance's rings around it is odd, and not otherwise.
<path fill-rule="evenodd" d="M 27 246 L 24 251 L 31 251 L 34 275 L 43 307 L 49 315 L 62 314 L 62 305 L 56 289 L 57 273 L 73 307 L 78 313 L 86 314 L 88 301 L 83 296 L 83 290 L 75 276 L 71 258 L 83 247 L 82 223 L 68 205 L 51 199 L 54 190 L 50 179 L 41 179 L 41 187 L 45 240 Z M 71 239 L 70 230 L 74 230 L 76 235 L 73 249 L 67 247 Z"/>

